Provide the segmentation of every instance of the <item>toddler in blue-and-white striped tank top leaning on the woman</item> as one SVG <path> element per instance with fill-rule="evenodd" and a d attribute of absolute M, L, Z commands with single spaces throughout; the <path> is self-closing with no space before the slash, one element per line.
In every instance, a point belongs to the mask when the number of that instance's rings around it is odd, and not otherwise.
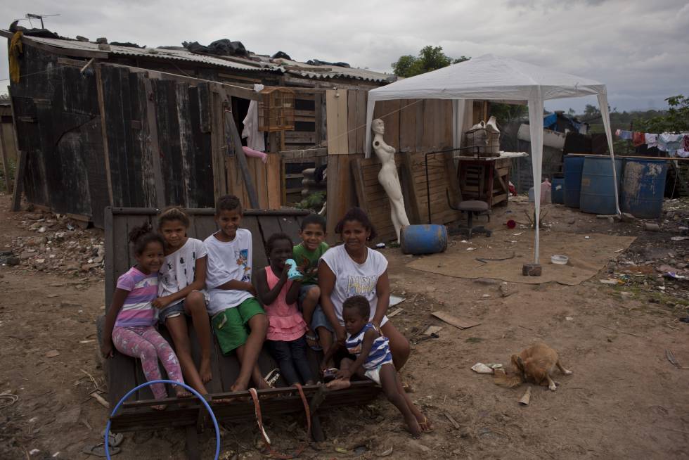
<path fill-rule="evenodd" d="M 397 370 L 392 364 L 389 340 L 368 321 L 370 315 L 371 306 L 362 295 L 354 295 L 342 304 L 342 318 L 345 320 L 347 331 L 344 346 L 346 351 L 356 359 L 342 358 L 340 371 L 337 371 L 335 380 L 326 386 L 332 390 L 348 388 L 349 379 L 354 375 L 378 383 L 387 400 L 392 402 L 404 416 L 411 435 L 418 437 L 423 431 L 422 428 L 428 426 L 427 419 L 404 392 Z M 340 344 L 330 347 L 323 357 L 321 367 L 325 368 L 335 352 L 341 349 Z"/>

